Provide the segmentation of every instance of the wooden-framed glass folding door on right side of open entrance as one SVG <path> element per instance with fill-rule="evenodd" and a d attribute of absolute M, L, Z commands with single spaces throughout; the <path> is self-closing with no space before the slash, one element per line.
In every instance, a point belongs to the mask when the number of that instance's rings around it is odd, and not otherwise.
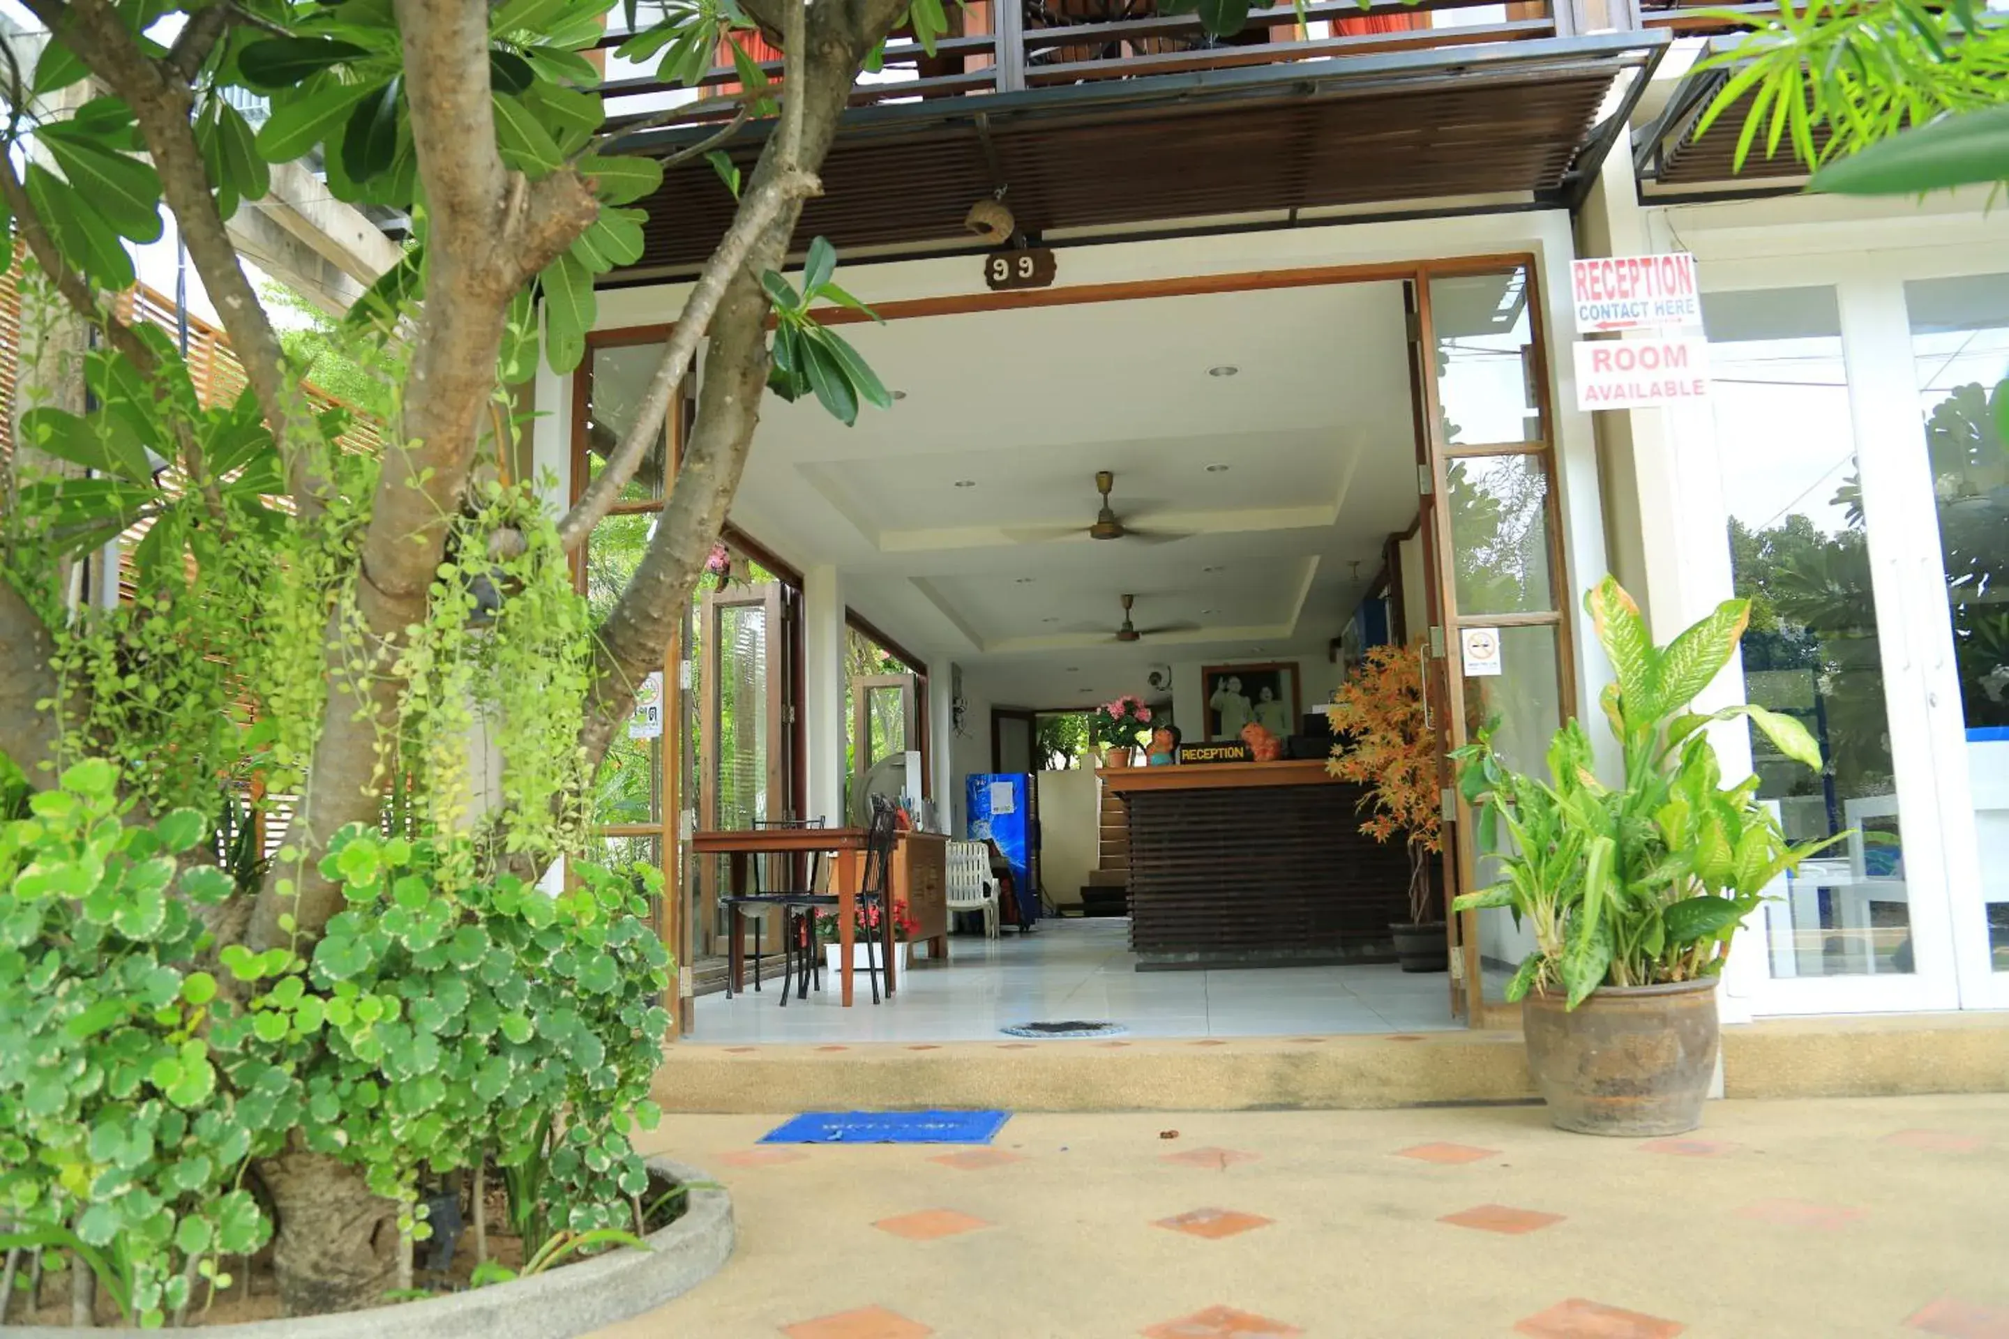
<path fill-rule="evenodd" d="M 1432 267 L 1416 343 L 1422 377 L 1432 610 L 1442 654 L 1446 745 L 1481 731 L 1515 769 L 1541 771 L 1575 711 L 1553 416 L 1531 263 L 1475 273 Z M 1457 803 L 1459 891 L 1493 881 Z M 1533 948 L 1505 907 L 1459 917 L 1457 974 L 1473 1026 L 1515 1026 L 1505 984 Z"/>

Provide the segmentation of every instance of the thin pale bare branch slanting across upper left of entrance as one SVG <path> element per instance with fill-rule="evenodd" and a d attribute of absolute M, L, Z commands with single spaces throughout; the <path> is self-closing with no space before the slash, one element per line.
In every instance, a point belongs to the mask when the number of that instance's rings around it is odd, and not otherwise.
<path fill-rule="evenodd" d="M 629 424 L 627 434 L 621 444 L 607 458 L 607 468 L 587 486 L 579 502 L 565 514 L 559 522 L 559 542 L 567 552 L 579 548 L 585 538 L 593 532 L 593 526 L 607 516 L 607 510 L 621 498 L 621 490 L 635 476 L 641 466 L 643 456 L 655 442 L 663 428 L 663 416 L 669 412 L 669 397 L 683 383 L 685 373 L 691 369 L 691 359 L 697 353 L 697 341 L 705 337 L 711 327 L 711 313 L 717 311 L 719 299 L 725 297 L 725 285 L 747 261 L 747 253 L 753 249 L 753 241 L 773 223 L 786 207 L 816 195 L 816 177 L 796 171 L 779 177 L 771 177 L 759 185 L 757 191 L 749 193 L 739 205 L 739 213 L 733 215 L 733 225 L 727 229 L 725 237 L 719 241 L 719 249 L 711 253 L 705 261 L 703 273 L 697 277 L 697 285 L 683 303 L 683 313 L 677 317 L 675 329 L 669 333 L 669 343 L 663 347 L 663 357 L 657 361 L 655 371 L 649 377 L 649 389 L 643 393 L 641 404 L 635 410 L 635 422 Z"/>

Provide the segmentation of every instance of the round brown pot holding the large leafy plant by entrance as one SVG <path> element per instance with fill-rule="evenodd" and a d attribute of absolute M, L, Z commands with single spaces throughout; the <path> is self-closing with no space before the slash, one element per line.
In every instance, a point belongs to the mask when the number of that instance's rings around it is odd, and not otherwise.
<path fill-rule="evenodd" d="M 1549 1120 L 1577 1134 L 1643 1138 L 1702 1124 L 1716 1076 L 1716 980 L 1605 986 L 1575 1010 L 1521 1002 L 1527 1068 Z"/>

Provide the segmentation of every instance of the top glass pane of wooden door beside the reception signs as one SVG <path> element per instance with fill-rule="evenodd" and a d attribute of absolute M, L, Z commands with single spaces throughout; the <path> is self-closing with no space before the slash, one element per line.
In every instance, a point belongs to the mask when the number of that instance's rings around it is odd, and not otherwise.
<path fill-rule="evenodd" d="M 1430 279 L 1436 393 L 1450 444 L 1541 442 L 1525 269 Z"/>

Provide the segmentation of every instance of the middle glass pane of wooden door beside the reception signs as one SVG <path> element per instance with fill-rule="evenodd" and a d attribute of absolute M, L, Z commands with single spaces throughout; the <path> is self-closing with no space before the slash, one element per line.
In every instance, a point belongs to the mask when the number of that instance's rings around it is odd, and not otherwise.
<path fill-rule="evenodd" d="M 1459 616 L 1555 608 L 1541 456 L 1465 456 L 1444 470 Z"/>

